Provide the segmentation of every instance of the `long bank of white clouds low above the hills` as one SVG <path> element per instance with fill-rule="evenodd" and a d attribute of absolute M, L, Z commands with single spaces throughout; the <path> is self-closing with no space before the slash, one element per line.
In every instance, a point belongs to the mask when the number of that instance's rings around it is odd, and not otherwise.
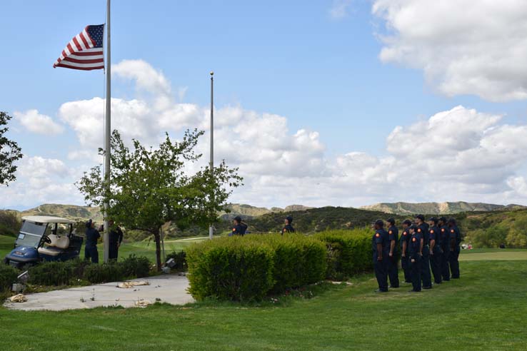
<path fill-rule="evenodd" d="M 149 95 L 112 98 L 112 126 L 125 139 L 155 146 L 165 131 L 208 131 L 208 108 L 174 101 L 168 80 L 148 63 L 124 62 L 116 65 L 116 76 L 133 79 L 136 88 Z M 71 151 L 69 158 L 92 158 L 88 163 L 96 163 L 96 150 L 103 143 L 101 106 L 103 99 L 92 98 L 59 108 L 59 117 L 79 141 L 79 150 Z M 377 143 L 387 144 L 385 156 L 349 151 L 335 158 L 326 156 L 316 131 L 289 131 L 283 116 L 241 106 L 218 108 L 215 116 L 216 160 L 239 167 L 245 178 L 246 185 L 236 189 L 233 202 L 269 207 L 357 206 L 394 200 L 527 203 L 522 175 L 527 166 L 527 126 L 503 124 L 503 116 L 456 106 L 378 137 Z M 208 143 L 206 135 L 198 146 L 204 164 Z M 65 161 L 29 157 L 18 176 L 9 188 L 0 188 L 0 208 L 81 203 L 71 185 L 80 175 L 68 171 Z"/>

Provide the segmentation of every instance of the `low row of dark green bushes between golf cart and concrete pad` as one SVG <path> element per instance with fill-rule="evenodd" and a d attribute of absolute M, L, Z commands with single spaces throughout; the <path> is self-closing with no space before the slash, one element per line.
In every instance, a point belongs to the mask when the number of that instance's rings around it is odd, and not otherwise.
<path fill-rule="evenodd" d="M 44 262 L 29 268 L 29 283 L 35 285 L 69 285 L 86 280 L 89 283 L 109 283 L 149 275 L 150 261 L 130 255 L 121 261 L 90 264 L 85 260 Z"/>

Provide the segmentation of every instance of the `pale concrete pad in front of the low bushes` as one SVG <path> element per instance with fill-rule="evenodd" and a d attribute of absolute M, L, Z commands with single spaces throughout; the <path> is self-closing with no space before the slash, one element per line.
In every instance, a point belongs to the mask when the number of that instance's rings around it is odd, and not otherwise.
<path fill-rule="evenodd" d="M 5 307 L 11 310 L 76 310 L 101 306 L 135 307 L 136 301 L 148 300 L 184 305 L 194 302 L 186 291 L 189 280 L 181 275 L 157 275 L 149 278 L 139 278 L 129 281 L 146 280 L 150 285 L 139 285 L 134 288 L 117 288 L 121 282 L 90 285 L 80 288 L 54 290 L 28 294 L 27 302 L 6 302 Z M 93 300 L 92 300 L 93 299 Z"/>

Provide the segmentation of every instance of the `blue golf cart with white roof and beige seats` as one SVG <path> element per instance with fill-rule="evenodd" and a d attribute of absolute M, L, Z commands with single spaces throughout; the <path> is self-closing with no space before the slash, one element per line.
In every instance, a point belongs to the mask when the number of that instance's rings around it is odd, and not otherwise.
<path fill-rule="evenodd" d="M 21 268 L 42 260 L 78 258 L 84 239 L 75 235 L 74 223 L 73 220 L 44 215 L 22 217 L 22 228 L 14 249 L 6 255 L 4 263 Z"/>

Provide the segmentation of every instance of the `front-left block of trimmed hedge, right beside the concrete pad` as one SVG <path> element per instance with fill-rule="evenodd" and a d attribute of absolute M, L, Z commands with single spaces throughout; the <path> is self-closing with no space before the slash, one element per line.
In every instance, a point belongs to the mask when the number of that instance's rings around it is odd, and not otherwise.
<path fill-rule="evenodd" d="M 189 292 L 196 300 L 261 300 L 273 288 L 273 249 L 248 238 L 219 238 L 189 248 Z"/>

